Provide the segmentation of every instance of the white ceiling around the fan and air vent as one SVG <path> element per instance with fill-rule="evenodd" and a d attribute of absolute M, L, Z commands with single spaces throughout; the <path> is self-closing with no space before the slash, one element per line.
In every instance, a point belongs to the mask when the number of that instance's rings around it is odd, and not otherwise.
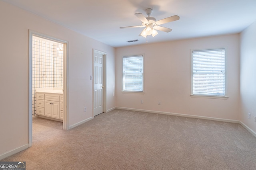
<path fill-rule="evenodd" d="M 239 33 L 256 21 L 256 0 L 3 0 L 68 27 L 112 47 L 137 45 Z M 161 26 L 155 37 L 138 36 L 144 28 L 134 15 L 152 8 L 152 17 L 161 20 L 173 15 L 180 20 Z M 61 38 L 61 37 L 60 37 Z M 128 40 L 138 42 L 128 43 Z"/>

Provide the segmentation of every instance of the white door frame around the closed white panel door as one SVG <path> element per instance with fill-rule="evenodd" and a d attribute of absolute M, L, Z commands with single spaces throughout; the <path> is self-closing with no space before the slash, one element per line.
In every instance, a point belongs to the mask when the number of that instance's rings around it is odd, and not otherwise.
<path fill-rule="evenodd" d="M 103 106 L 103 113 L 106 113 L 106 106 L 107 106 L 107 100 L 106 100 L 106 96 L 107 96 L 107 77 L 106 77 L 106 58 L 107 58 L 107 53 L 105 53 L 105 52 L 103 52 L 103 51 L 99 51 L 99 50 L 96 50 L 96 49 L 93 49 L 93 54 L 92 54 L 92 86 L 93 86 L 93 89 L 92 89 L 92 109 L 93 109 L 93 117 L 94 117 L 94 53 L 95 52 L 97 52 L 97 53 L 99 53 L 99 54 L 101 54 L 101 55 L 103 55 L 103 85 L 105 86 L 104 87 L 104 93 L 103 93 L 103 95 L 104 95 L 104 98 L 103 98 L 103 104 L 104 104 L 104 106 Z"/>

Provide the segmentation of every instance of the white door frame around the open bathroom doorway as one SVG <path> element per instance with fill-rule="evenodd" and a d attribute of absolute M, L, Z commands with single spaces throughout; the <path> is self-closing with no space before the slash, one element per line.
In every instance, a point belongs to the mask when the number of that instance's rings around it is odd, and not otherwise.
<path fill-rule="evenodd" d="M 29 30 L 29 59 L 28 59 L 28 145 L 32 146 L 32 37 L 41 37 L 43 39 L 49 39 L 63 44 L 63 96 L 64 96 L 64 116 L 63 116 L 63 129 L 69 129 L 69 114 L 68 114 L 68 42 L 51 37 L 36 31 Z"/>

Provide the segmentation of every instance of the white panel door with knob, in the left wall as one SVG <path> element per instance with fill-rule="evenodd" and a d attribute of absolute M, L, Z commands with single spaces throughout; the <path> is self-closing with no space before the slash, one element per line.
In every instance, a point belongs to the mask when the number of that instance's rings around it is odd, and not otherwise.
<path fill-rule="evenodd" d="M 103 84 L 103 66 L 104 66 L 104 55 L 94 51 L 94 93 L 93 93 L 93 106 L 94 116 L 104 112 L 104 84 Z"/>

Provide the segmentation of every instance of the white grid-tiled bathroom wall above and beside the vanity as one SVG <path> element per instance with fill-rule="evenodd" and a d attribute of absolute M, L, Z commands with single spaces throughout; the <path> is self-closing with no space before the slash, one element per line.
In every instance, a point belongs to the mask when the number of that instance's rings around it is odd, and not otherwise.
<path fill-rule="evenodd" d="M 36 115 L 36 88 L 63 86 L 63 44 L 33 36 L 32 114 Z"/>

